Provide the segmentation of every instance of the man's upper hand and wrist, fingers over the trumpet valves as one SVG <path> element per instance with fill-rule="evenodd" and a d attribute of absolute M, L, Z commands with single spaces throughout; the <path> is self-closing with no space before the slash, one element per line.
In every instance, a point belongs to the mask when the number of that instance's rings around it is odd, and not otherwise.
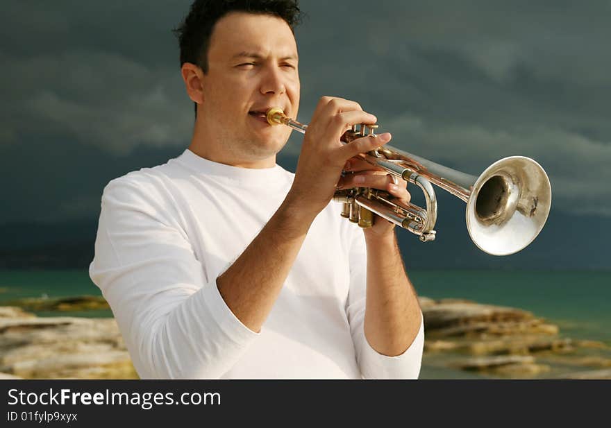
<path fill-rule="evenodd" d="M 373 114 L 364 112 L 358 103 L 324 96 L 320 99 L 303 138 L 303 146 L 293 185 L 286 202 L 313 220 L 333 198 L 346 161 L 367 153 L 390 141 L 390 134 L 377 138 L 362 137 L 349 144 L 340 137 L 352 125 L 376 123 Z"/>

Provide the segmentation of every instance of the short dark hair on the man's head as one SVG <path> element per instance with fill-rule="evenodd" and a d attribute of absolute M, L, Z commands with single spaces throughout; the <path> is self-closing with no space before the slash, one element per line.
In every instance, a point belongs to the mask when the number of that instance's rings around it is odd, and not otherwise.
<path fill-rule="evenodd" d="M 188 15 L 174 34 L 181 47 L 181 67 L 185 62 L 208 73 L 208 47 L 215 24 L 229 12 L 249 12 L 280 17 L 291 31 L 301 22 L 299 0 L 195 0 Z M 197 114 L 197 104 L 195 105 Z"/>

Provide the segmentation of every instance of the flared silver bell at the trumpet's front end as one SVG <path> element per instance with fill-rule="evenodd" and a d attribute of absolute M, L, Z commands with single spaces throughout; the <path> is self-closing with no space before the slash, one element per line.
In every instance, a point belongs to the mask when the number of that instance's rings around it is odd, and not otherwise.
<path fill-rule="evenodd" d="M 541 232 L 551 208 L 551 185 L 529 157 L 505 157 L 476 180 L 467 201 L 467 230 L 476 246 L 510 255 Z"/>

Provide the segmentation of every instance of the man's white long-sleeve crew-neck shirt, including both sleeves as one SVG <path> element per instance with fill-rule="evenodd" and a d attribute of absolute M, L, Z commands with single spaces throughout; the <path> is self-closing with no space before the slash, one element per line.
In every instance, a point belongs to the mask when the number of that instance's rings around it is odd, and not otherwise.
<path fill-rule="evenodd" d="M 417 378 L 424 325 L 397 357 L 363 329 L 366 252 L 330 203 L 315 219 L 259 333 L 216 279 L 281 205 L 294 174 L 244 169 L 186 150 L 110 181 L 90 277 L 142 378 Z"/>

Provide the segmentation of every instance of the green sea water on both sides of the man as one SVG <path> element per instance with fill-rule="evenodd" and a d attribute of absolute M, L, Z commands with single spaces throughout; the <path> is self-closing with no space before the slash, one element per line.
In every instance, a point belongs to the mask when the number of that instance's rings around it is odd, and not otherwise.
<path fill-rule="evenodd" d="M 571 339 L 611 345 L 611 271 L 409 271 L 419 296 L 458 298 L 525 309 Z M 101 296 L 86 270 L 0 271 L 0 306 L 22 298 Z M 110 317 L 110 310 L 37 316 Z M 427 366 L 421 379 L 478 377 Z"/>

